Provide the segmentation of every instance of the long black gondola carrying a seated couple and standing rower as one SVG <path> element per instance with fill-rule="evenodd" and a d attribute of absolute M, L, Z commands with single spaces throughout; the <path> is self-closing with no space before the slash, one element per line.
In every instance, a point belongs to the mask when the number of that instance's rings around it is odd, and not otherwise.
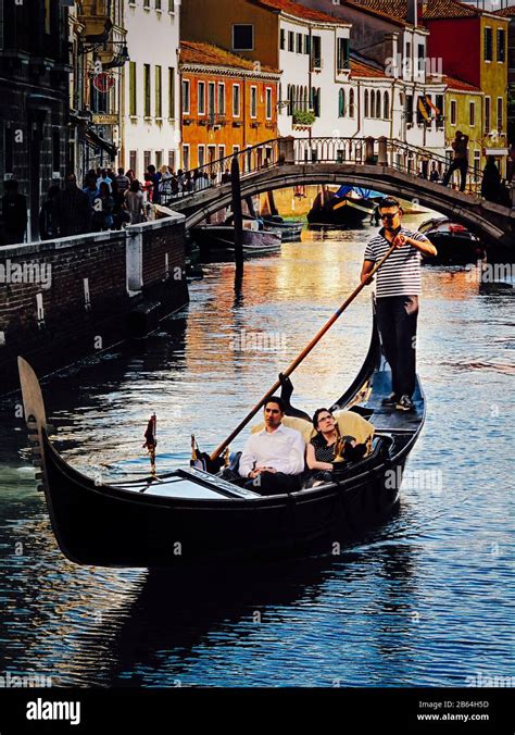
<path fill-rule="evenodd" d="M 194 466 L 159 477 L 98 484 L 56 451 L 38 379 L 22 358 L 20 374 L 40 489 L 59 547 L 70 560 L 98 566 L 261 563 L 315 547 L 334 552 L 335 543 L 355 538 L 391 514 L 404 463 L 425 419 L 418 381 L 413 412 L 381 406 L 391 376 L 374 324 L 361 371 L 332 406 L 373 422 L 370 451 L 328 475 L 322 485 L 263 497 Z M 302 414 L 289 407 L 287 413 Z"/>

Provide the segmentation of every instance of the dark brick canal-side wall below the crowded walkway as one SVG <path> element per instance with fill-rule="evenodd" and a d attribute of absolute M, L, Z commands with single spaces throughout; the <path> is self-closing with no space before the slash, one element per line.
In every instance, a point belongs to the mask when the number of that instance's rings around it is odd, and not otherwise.
<path fill-rule="evenodd" d="M 160 316 L 184 306 L 184 216 L 174 214 L 121 232 L 0 248 L 0 393 L 16 379 L 18 354 L 39 372 L 64 366 L 126 337 L 128 314 L 145 299 L 159 301 Z M 140 253 L 140 287 L 130 291 L 129 240 Z"/>

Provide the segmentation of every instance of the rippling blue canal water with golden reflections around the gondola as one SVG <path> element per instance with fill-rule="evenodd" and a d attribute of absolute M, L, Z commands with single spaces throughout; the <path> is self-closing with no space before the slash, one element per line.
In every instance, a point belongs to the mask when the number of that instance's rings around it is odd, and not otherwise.
<path fill-rule="evenodd" d="M 152 411 L 160 472 L 188 461 L 191 433 L 217 446 L 357 284 L 372 232 L 305 232 L 280 257 L 248 262 L 241 291 L 231 264 L 210 265 L 158 333 L 49 378 L 63 456 L 108 481 L 147 474 Z M 76 566 L 35 489 L 18 399 L 4 400 L 0 674 L 147 687 L 513 676 L 513 289 L 457 269 L 423 277 L 427 422 L 399 512 L 340 556 L 193 578 Z M 298 369 L 293 403 L 312 412 L 339 397 L 369 333 L 366 289 Z"/>

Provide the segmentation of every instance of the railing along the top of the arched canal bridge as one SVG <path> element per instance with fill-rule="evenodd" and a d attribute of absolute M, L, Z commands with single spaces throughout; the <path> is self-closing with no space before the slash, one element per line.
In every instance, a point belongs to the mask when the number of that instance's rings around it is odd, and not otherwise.
<path fill-rule="evenodd" d="M 193 197 L 213 186 L 230 182 L 230 167 L 235 155 L 238 158 L 241 178 L 247 178 L 263 169 L 277 166 L 282 162 L 297 164 L 313 163 L 357 163 L 388 165 L 419 178 L 441 182 L 451 161 L 439 153 L 425 148 L 411 146 L 400 140 L 387 138 L 296 138 L 293 160 L 284 160 L 285 141 L 288 138 L 274 138 L 256 146 L 235 151 L 222 159 L 209 161 L 202 166 L 178 172 L 175 179 L 167 179 L 162 187 L 161 203 L 173 204 L 185 197 Z M 291 141 L 291 139 L 290 139 Z M 460 172 L 454 174 L 453 188 L 460 187 Z M 344 183 L 344 182 L 342 182 Z M 481 172 L 468 166 L 466 188 L 469 194 L 480 192 Z"/>

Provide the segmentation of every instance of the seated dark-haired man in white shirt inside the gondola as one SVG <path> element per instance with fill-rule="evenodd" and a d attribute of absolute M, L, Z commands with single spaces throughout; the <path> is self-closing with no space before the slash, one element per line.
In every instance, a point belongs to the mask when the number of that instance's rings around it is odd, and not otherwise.
<path fill-rule="evenodd" d="M 265 427 L 252 434 L 241 453 L 239 473 L 249 478 L 246 487 L 261 495 L 300 489 L 305 444 L 300 432 L 282 425 L 284 415 L 282 399 L 268 398 L 264 403 Z"/>

